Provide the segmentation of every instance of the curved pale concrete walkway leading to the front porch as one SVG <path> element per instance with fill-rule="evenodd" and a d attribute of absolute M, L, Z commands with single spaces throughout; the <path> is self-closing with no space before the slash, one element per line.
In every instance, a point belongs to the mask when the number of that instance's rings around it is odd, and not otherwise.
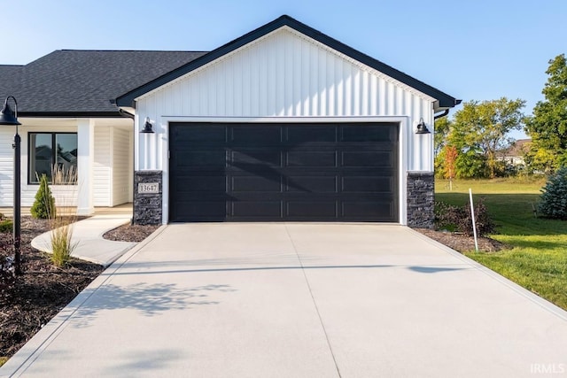
<path fill-rule="evenodd" d="M 128 223 L 131 217 L 131 212 L 97 214 L 74 223 L 72 243 L 76 243 L 76 247 L 72 255 L 102 266 L 110 266 L 136 243 L 113 242 L 104 239 L 103 235 L 106 231 Z M 46 232 L 35 237 L 32 247 L 51 253 L 50 234 Z"/>

